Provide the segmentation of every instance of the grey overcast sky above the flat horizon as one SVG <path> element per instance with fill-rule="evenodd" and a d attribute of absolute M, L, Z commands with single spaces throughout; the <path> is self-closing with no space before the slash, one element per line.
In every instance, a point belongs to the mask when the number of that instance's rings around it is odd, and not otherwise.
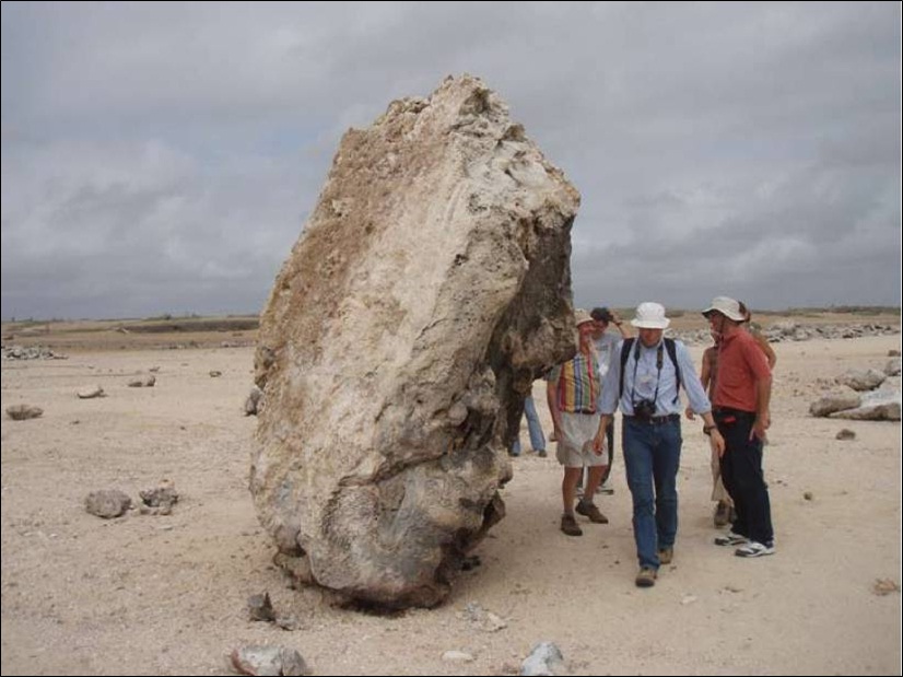
<path fill-rule="evenodd" d="M 341 135 L 482 78 L 577 305 L 900 304 L 901 4 L 2 3 L 2 317 L 257 313 Z"/>

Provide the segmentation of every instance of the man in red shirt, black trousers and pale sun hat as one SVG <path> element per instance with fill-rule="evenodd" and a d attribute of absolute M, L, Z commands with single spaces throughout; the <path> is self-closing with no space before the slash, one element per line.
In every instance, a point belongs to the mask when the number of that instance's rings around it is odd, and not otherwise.
<path fill-rule="evenodd" d="M 714 407 L 718 432 L 725 439 L 722 479 L 737 517 L 719 546 L 740 546 L 737 557 L 774 553 L 769 486 L 762 472 L 762 446 L 771 425 L 772 374 L 755 339 L 740 328 L 746 315 L 728 296 L 716 296 L 702 313 L 720 337 Z"/>

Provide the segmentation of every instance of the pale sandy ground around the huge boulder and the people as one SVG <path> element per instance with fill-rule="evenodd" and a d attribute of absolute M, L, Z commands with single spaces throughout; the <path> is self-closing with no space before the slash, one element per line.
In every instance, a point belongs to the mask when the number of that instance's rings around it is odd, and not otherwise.
<path fill-rule="evenodd" d="M 45 413 L 2 420 L 2 674 L 231 674 L 226 654 L 247 643 L 296 649 L 318 675 L 512 674 L 543 640 L 579 675 L 900 674 L 901 596 L 873 590 L 901 580 L 900 423 L 808 416 L 817 378 L 882 367 L 891 348 L 899 336 L 776 346 L 774 557 L 743 560 L 712 544 L 695 422 L 684 427 L 676 557 L 654 588 L 633 584 L 620 448 L 615 493 L 598 500 L 611 524 L 585 524 L 582 538 L 558 529 L 553 455 L 525 453 L 503 490 L 507 517 L 476 550 L 482 564 L 442 607 L 390 617 L 292 590 L 271 564 L 246 489 L 250 348 L 3 361 L 3 410 L 26 402 Z M 701 348 L 692 351 L 699 364 Z M 152 366 L 155 387 L 126 386 Z M 108 397 L 75 397 L 93 384 Z M 548 431 L 541 383 L 536 395 Z M 856 439 L 836 441 L 842 428 Z M 526 427 L 523 440 L 528 450 Z M 183 497 L 171 516 L 105 521 L 83 509 L 91 491 L 138 500 L 162 479 Z M 297 629 L 248 620 L 247 598 L 262 592 Z M 507 626 L 482 629 L 468 604 Z M 444 660 L 447 651 L 472 661 Z"/>

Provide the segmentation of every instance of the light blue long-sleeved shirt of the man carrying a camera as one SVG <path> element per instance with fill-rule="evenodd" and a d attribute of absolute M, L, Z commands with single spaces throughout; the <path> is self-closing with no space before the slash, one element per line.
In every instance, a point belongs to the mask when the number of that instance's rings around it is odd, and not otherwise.
<path fill-rule="evenodd" d="M 620 405 L 624 416 L 633 416 L 633 402 L 641 399 L 652 399 L 655 396 L 656 385 L 658 386 L 658 397 L 655 401 L 655 415 L 668 416 L 671 413 L 682 413 L 683 407 L 678 398 L 677 371 L 671 362 L 668 350 L 665 348 L 664 339 L 652 348 L 646 348 L 637 337 L 626 364 L 624 364 L 624 392 L 618 400 L 618 385 L 621 381 L 621 350 L 624 341 L 618 342 L 618 348 L 612 352 L 609 362 L 608 373 L 602 383 L 602 398 L 599 409 L 602 413 L 612 415 Z M 640 347 L 640 358 L 636 358 L 636 347 Z M 658 347 L 661 347 L 661 372 L 658 370 Z M 690 408 L 696 413 L 707 413 L 712 411 L 712 402 L 703 390 L 700 377 L 687 350 L 681 341 L 675 341 L 678 364 L 680 365 L 681 386 L 683 386 L 687 397 L 690 400 Z"/>

